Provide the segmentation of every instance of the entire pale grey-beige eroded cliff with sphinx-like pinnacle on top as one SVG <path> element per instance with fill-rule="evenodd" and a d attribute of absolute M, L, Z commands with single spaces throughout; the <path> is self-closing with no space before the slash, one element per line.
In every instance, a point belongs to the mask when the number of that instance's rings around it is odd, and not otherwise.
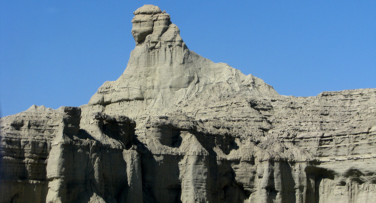
<path fill-rule="evenodd" d="M 134 14 L 88 104 L 0 118 L 0 202 L 375 202 L 376 89 L 280 95 Z"/>

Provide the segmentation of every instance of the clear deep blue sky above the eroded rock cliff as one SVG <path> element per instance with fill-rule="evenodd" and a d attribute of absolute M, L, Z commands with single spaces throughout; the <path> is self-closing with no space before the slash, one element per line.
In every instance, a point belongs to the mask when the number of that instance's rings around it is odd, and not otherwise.
<path fill-rule="evenodd" d="M 375 0 L 0 0 L 0 116 L 87 103 L 124 71 L 143 4 L 191 50 L 280 94 L 376 88 Z"/>

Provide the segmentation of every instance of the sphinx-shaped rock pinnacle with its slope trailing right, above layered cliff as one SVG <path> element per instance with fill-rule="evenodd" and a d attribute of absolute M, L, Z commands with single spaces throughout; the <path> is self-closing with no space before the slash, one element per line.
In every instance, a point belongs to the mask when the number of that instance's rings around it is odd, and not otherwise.
<path fill-rule="evenodd" d="M 133 14 L 131 32 L 136 47 L 130 54 L 127 68 L 116 81 L 106 81 L 89 104 L 108 105 L 159 97 L 163 101 L 158 105 L 169 105 L 195 96 L 204 85 L 214 83 L 230 84 L 233 86 L 230 89 L 234 90 L 244 87 L 257 95 L 279 95 L 260 78 L 244 75 L 225 63 L 214 63 L 189 50 L 180 37 L 179 28 L 170 21 L 170 15 L 158 6 L 143 5 Z M 236 78 L 239 81 L 227 82 L 228 75 L 239 75 Z M 223 92 L 234 94 L 228 92 L 228 87 Z"/>

